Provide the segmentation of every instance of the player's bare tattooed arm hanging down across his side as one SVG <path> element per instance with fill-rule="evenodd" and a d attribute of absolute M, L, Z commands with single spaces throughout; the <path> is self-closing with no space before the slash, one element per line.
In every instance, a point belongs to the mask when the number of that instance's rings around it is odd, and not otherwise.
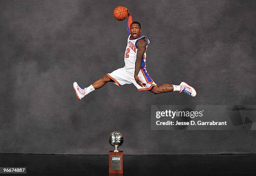
<path fill-rule="evenodd" d="M 138 77 L 138 73 L 141 70 L 141 61 L 146 51 L 146 46 L 147 46 L 147 43 L 144 39 L 138 40 L 138 43 L 137 43 L 138 50 L 137 50 L 136 61 L 135 61 L 134 79 L 141 87 L 143 87 L 143 85 L 141 80 Z"/>

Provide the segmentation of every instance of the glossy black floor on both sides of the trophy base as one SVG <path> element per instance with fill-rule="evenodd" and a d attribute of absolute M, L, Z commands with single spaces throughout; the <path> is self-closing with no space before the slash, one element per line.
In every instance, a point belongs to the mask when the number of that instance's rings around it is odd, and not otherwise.
<path fill-rule="evenodd" d="M 124 155 L 123 158 L 123 176 L 256 176 L 256 155 Z M 0 153 L 0 167 L 27 167 L 27 174 L 23 175 L 31 176 L 109 175 L 108 155 Z"/>

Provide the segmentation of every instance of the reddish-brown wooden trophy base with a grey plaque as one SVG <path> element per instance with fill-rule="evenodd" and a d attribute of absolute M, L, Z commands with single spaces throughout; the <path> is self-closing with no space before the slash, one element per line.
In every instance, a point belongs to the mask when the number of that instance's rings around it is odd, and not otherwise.
<path fill-rule="evenodd" d="M 108 173 L 123 173 L 123 151 L 108 153 Z"/>

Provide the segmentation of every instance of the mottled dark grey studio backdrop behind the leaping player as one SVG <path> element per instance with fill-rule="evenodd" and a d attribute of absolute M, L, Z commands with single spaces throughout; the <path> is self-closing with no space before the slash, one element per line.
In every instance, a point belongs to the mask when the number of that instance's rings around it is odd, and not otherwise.
<path fill-rule="evenodd" d="M 196 98 L 108 83 L 124 66 L 124 5 L 151 39 L 147 70 L 157 84 L 187 81 Z M 1 0 L 0 153 L 107 154 L 124 135 L 125 154 L 256 153 L 256 131 L 151 130 L 151 105 L 255 105 L 256 1 Z"/>

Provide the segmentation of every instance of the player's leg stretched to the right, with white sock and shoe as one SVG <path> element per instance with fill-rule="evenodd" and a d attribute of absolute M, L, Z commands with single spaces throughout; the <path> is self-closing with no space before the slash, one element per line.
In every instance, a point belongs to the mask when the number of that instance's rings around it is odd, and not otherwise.
<path fill-rule="evenodd" d="M 152 89 L 149 91 L 154 94 L 179 91 L 180 93 L 189 94 L 192 97 L 195 97 L 197 95 L 195 88 L 190 86 L 186 82 L 181 82 L 178 86 L 173 84 L 162 84 L 161 86 L 158 86 L 158 87 L 152 87 Z"/>

